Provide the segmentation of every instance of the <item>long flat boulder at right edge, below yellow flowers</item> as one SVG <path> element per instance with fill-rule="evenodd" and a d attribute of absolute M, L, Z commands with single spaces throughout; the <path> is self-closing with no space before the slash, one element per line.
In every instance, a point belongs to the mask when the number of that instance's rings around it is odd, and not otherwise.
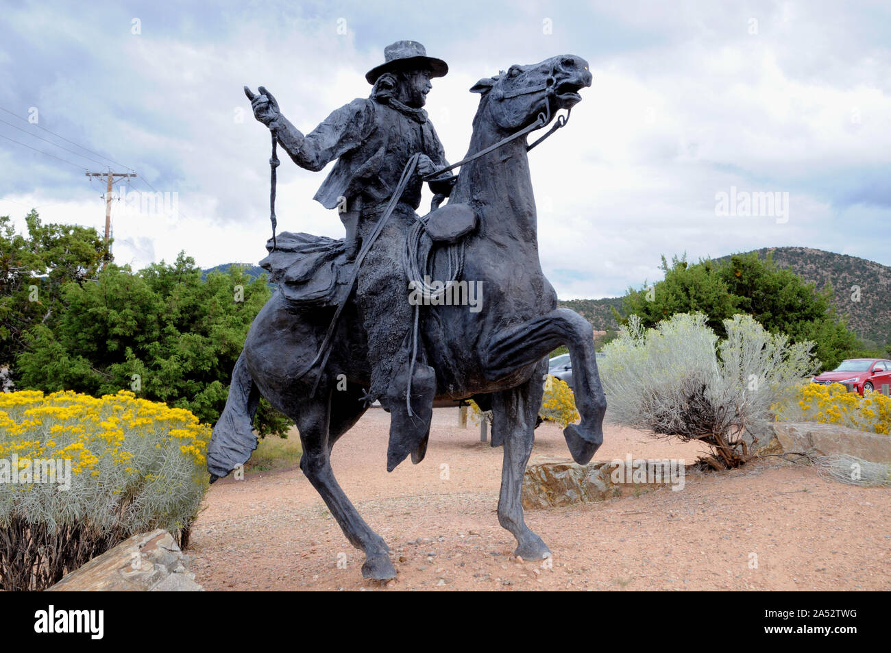
<path fill-rule="evenodd" d="M 864 461 L 891 463 L 891 437 L 838 424 L 778 421 L 773 424 L 773 436 L 758 444 L 750 453 L 846 453 Z"/>

